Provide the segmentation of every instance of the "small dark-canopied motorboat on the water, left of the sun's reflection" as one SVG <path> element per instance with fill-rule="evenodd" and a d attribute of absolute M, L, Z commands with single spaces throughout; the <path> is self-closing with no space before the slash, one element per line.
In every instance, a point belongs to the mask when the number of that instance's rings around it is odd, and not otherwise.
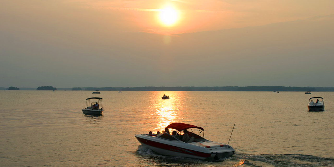
<path fill-rule="evenodd" d="M 86 107 L 82 109 L 82 113 L 87 115 L 101 115 L 103 111 L 102 98 L 87 98 Z"/>

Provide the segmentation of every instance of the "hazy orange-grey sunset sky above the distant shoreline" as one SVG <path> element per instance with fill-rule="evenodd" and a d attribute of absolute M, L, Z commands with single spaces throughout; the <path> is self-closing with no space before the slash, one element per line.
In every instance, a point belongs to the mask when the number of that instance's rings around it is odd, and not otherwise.
<path fill-rule="evenodd" d="M 10 0 L 0 87 L 334 87 L 333 0 Z"/>

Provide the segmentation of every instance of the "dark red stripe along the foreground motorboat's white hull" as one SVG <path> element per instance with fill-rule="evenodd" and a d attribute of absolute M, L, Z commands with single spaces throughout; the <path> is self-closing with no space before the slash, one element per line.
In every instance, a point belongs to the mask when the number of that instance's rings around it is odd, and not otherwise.
<path fill-rule="evenodd" d="M 149 146 L 153 146 L 153 147 L 157 147 L 157 148 L 161 148 L 161 149 L 165 149 L 165 150 L 169 150 L 169 151 L 174 151 L 174 152 L 178 152 L 178 153 L 189 154 L 189 155 L 194 155 L 194 156 L 204 157 L 204 158 L 208 158 L 208 157 L 211 156 L 211 154 L 209 154 L 209 153 L 203 153 L 203 152 L 198 152 L 198 151 L 194 151 L 194 150 L 189 150 L 189 149 L 176 147 L 176 146 L 172 146 L 172 145 L 168 145 L 168 144 L 163 144 L 163 143 L 159 143 L 159 142 L 155 142 L 155 141 L 151 141 L 151 140 L 147 140 L 147 139 L 142 139 L 142 138 L 139 138 L 139 137 L 136 137 L 136 138 L 140 143 L 147 144 Z"/>

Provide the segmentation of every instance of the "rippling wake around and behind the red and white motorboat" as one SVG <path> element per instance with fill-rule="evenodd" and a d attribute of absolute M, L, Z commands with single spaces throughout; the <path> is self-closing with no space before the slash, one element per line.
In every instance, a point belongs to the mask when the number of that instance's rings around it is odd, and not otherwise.
<path fill-rule="evenodd" d="M 237 153 L 232 157 L 216 161 L 172 157 L 160 155 L 143 145 L 138 146 L 137 154 L 158 166 L 218 166 L 218 167 L 334 167 L 334 158 L 323 158 L 304 154 L 245 154 Z M 167 165 L 168 164 L 168 165 Z"/>

